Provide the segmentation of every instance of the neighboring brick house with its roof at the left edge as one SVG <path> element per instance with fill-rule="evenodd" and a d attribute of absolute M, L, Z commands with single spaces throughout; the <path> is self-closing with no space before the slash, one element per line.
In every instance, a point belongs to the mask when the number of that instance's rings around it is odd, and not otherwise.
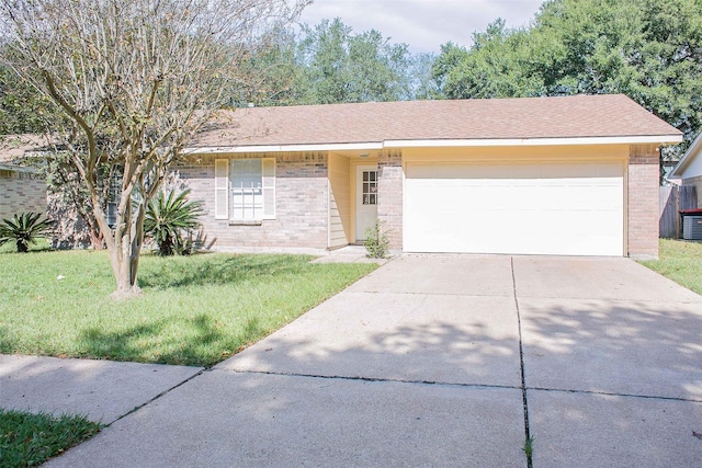
<path fill-rule="evenodd" d="M 0 137 L 0 219 L 23 212 L 46 213 L 46 182 L 29 167 L 18 164 L 37 146 L 31 135 Z"/>

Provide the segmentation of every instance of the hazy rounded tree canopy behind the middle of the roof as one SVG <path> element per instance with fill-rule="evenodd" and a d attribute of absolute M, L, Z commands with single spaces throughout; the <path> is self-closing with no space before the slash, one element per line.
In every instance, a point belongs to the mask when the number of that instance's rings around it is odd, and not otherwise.
<path fill-rule="evenodd" d="M 375 30 L 355 34 L 338 18 L 305 24 L 298 34 L 279 31 L 274 47 L 246 66 L 261 85 L 236 99 L 256 105 L 399 101 L 428 96 L 431 88 L 420 73 L 430 76 L 426 56 L 414 57 L 407 44 Z"/>

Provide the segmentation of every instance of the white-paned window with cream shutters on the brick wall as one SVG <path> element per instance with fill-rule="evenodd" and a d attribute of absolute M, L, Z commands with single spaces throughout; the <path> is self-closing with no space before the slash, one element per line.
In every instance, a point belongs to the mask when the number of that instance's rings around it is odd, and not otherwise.
<path fill-rule="evenodd" d="M 260 221 L 275 218 L 275 159 L 217 159 L 215 218 Z"/>

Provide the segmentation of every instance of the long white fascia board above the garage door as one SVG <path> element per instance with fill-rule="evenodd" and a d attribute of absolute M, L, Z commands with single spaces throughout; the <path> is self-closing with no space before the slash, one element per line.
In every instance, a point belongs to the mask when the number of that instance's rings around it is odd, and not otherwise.
<path fill-rule="evenodd" d="M 653 135 L 637 137 L 578 137 L 578 138 L 495 138 L 456 140 L 386 140 L 385 148 L 444 148 L 488 146 L 564 146 L 564 145 L 646 145 L 679 144 L 682 135 Z"/>

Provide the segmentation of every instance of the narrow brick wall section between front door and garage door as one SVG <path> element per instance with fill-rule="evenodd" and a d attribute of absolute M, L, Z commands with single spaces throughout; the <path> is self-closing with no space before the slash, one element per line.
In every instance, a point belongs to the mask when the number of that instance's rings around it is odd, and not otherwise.
<path fill-rule="evenodd" d="M 403 248 L 403 153 L 383 150 L 377 161 L 377 217 L 388 229 L 390 249 Z"/>

